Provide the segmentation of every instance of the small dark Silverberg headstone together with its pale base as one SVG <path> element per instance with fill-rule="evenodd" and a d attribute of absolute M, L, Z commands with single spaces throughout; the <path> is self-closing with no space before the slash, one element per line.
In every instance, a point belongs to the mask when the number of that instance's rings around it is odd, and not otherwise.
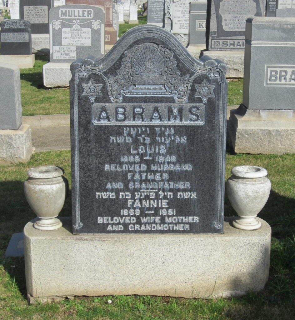
<path fill-rule="evenodd" d="M 4 20 L 0 28 L 0 62 L 15 64 L 19 68 L 32 68 L 35 55 L 32 54 L 30 23 L 25 20 Z"/>

